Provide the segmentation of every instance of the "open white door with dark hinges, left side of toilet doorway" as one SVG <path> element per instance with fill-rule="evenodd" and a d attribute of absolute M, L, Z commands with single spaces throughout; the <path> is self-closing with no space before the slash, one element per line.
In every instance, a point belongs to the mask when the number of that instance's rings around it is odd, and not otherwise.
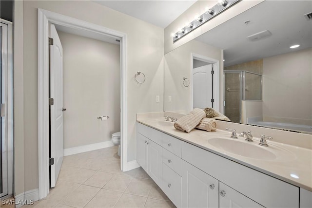
<path fill-rule="evenodd" d="M 59 40 L 58 32 L 54 26 L 50 26 L 50 161 L 51 165 L 50 187 L 55 187 L 64 156 L 64 131 L 63 131 L 63 48 Z M 50 164 L 51 164 L 50 163 Z"/>

